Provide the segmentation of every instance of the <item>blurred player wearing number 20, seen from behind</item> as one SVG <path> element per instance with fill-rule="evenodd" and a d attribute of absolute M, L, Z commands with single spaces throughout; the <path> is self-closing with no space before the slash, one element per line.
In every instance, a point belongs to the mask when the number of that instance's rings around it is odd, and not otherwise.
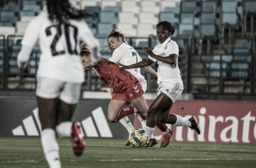
<path fill-rule="evenodd" d="M 84 11 L 72 7 L 68 0 L 48 0 L 46 7 L 47 11 L 32 19 L 26 28 L 18 67 L 21 73 L 28 73 L 29 56 L 38 40 L 41 55 L 36 98 L 42 149 L 49 167 L 59 168 L 61 162 L 55 133 L 59 137 L 72 137 L 75 155 L 82 155 L 84 150 L 80 124 L 71 122 L 84 82 L 84 69 L 78 55 L 79 40 L 87 42 L 94 51 L 100 45 L 84 21 Z M 100 56 L 98 52 L 97 55 Z"/>

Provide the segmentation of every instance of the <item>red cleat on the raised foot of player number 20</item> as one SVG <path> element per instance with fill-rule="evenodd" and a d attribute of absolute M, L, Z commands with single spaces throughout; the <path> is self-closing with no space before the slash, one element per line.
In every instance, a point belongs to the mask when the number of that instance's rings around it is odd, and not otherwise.
<path fill-rule="evenodd" d="M 79 122 L 74 122 L 71 128 L 73 153 L 77 157 L 81 156 L 84 151 L 84 139 L 81 134 L 80 128 L 81 128 L 81 125 Z"/>

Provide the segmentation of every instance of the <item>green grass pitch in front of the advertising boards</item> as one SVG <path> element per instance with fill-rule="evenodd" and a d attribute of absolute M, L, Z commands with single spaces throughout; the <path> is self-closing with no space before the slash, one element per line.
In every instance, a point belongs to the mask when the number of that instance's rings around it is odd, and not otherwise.
<path fill-rule="evenodd" d="M 171 142 L 166 148 L 131 148 L 125 140 L 86 139 L 82 157 L 75 157 L 69 139 L 58 139 L 61 163 L 79 167 L 255 167 L 255 144 Z M 0 167 L 48 167 L 40 138 L 0 138 Z"/>

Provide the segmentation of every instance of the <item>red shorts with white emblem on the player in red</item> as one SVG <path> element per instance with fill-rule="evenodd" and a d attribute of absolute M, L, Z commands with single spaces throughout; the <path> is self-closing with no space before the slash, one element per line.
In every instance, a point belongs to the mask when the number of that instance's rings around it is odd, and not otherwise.
<path fill-rule="evenodd" d="M 137 97 L 141 97 L 143 93 L 144 91 L 142 89 L 141 84 L 137 82 L 135 85 L 133 85 L 133 87 L 130 87 L 123 93 L 114 93 L 112 99 L 124 100 L 131 103 L 133 99 L 137 99 Z"/>

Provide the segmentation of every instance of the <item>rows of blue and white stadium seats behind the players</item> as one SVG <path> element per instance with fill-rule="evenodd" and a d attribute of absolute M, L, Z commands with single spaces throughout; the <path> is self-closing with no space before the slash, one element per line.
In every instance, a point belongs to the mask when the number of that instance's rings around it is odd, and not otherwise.
<path fill-rule="evenodd" d="M 225 81 L 237 81 L 239 78 L 244 81 L 250 80 L 248 77 L 252 74 L 251 66 L 255 64 L 252 62 L 254 46 L 250 40 L 255 36 L 256 4 L 254 0 L 71 0 L 71 3 L 78 9 L 94 13 L 93 17 L 86 17 L 86 22 L 100 40 L 102 54 L 106 58 L 111 55 L 104 46 L 106 36 L 112 28 L 120 28 L 141 57 L 147 58 L 145 52 L 141 50 L 141 46 L 149 46 L 149 36 L 152 35 L 151 37 L 156 38 L 156 24 L 167 20 L 175 28 L 175 33 L 171 38 L 179 46 L 180 68 L 184 85 L 187 85 L 189 80 L 196 80 L 187 79 L 189 73 L 195 72 L 193 68 L 191 71 L 189 70 L 190 72 L 186 68 L 196 66 L 189 65 L 187 62 L 189 59 L 193 62 L 193 58 L 196 58 L 195 62 L 201 64 L 198 66 L 201 68 L 198 72 L 201 75 L 199 76 L 204 77 L 203 80 L 207 81 L 205 85 L 212 85 L 212 79 L 224 80 L 223 83 L 219 82 L 220 85 L 224 85 Z M 3 57 L 7 54 L 9 58 L 8 71 L 13 76 L 15 73 L 17 75 L 15 59 L 21 47 L 20 40 L 9 36 L 7 41 L 7 36 L 23 35 L 28 22 L 42 9 L 42 4 L 45 4 L 45 1 L 23 0 L 18 4 L 8 3 L 0 11 L 1 15 L 2 12 L 3 15 L 6 13 L 11 15 L 0 17 L 0 35 L 5 36 L 5 46 L 8 48 L 6 53 L 0 54 L 0 74 L 3 72 L 3 64 L 5 64 Z M 230 34 L 234 35 L 228 37 L 232 40 L 228 43 L 221 43 L 220 38 L 226 38 L 225 35 L 228 31 L 232 31 Z M 250 38 L 249 41 L 239 42 L 241 31 L 245 35 L 243 37 Z M 151 47 L 157 42 L 156 38 Z M 229 43 L 230 48 L 227 50 L 226 46 Z M 2 49 L 5 48 L 0 42 L 0 51 Z M 200 52 L 201 50 L 207 50 L 206 55 Z M 37 45 L 30 56 L 30 66 L 32 67 L 30 75 L 36 73 L 39 54 L 40 48 Z M 0 75 L 0 79 L 1 77 Z M 91 74 L 90 77 L 97 79 L 95 74 Z M 92 83 L 96 85 L 95 87 L 98 85 L 98 81 L 94 79 L 90 83 L 90 89 L 92 89 Z"/>

